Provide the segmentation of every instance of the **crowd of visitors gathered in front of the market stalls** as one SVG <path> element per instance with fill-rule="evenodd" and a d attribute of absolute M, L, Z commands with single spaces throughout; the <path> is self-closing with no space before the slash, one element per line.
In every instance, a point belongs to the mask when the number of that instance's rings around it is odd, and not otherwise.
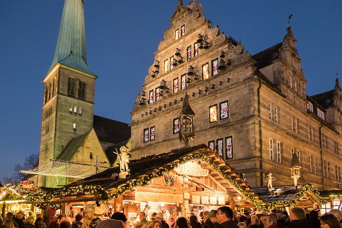
<path fill-rule="evenodd" d="M 280 210 L 272 210 L 269 214 L 251 215 L 248 211 L 241 214 L 238 210 L 234 213 L 229 207 L 222 206 L 218 210 L 205 210 L 200 213 L 194 210 L 188 215 L 188 219 L 174 218 L 166 211 L 164 209 L 152 212 L 147 208 L 139 213 L 139 221 L 133 226 L 134 228 L 342 228 L 342 212 L 338 209 L 333 209 L 322 216 L 318 216 L 315 210 L 305 212 L 302 208 L 292 208 L 290 215 Z M 87 226 L 84 226 L 81 214 L 75 216 L 74 222 L 71 222 L 70 217 L 58 215 L 50 217 L 49 224 L 45 224 L 42 214 L 34 214 L 30 211 L 25 218 L 24 213 L 19 211 L 16 215 L 8 212 L 3 221 L 0 219 L 0 228 L 124 228 L 126 222 L 125 214 L 115 212 L 110 219 L 92 219 Z"/>

